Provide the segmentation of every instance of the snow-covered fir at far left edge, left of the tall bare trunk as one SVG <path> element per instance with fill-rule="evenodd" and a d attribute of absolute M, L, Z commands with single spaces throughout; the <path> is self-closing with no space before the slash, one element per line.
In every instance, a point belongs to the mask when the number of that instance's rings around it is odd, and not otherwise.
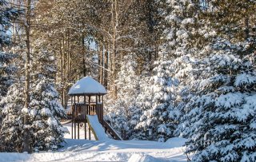
<path fill-rule="evenodd" d="M 0 150 L 5 152 L 22 151 L 23 121 L 21 109 L 24 105 L 24 95 L 21 84 L 14 83 L 8 89 L 6 97 L 0 101 L 2 109 L 2 124 L 0 127 Z"/>

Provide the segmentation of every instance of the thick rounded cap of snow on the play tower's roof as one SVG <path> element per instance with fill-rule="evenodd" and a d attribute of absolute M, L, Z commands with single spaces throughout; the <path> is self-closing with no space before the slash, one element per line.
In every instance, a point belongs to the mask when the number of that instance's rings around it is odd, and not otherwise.
<path fill-rule="evenodd" d="M 70 88 L 68 94 L 106 94 L 106 89 L 92 77 L 83 77 Z"/>

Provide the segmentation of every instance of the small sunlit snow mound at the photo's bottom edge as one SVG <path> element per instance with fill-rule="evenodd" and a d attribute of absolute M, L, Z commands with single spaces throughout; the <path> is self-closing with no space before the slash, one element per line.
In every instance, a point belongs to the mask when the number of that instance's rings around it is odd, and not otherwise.
<path fill-rule="evenodd" d="M 130 159 L 128 162 L 166 162 L 167 160 L 164 160 L 162 158 L 156 158 L 154 156 L 150 155 L 143 155 L 143 154 L 134 154 L 130 156 Z"/>

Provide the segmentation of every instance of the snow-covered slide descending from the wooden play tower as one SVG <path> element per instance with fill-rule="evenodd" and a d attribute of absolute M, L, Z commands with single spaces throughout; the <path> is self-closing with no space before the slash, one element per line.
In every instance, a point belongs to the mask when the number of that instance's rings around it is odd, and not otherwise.
<path fill-rule="evenodd" d="M 96 140 L 109 140 L 104 128 L 102 127 L 102 124 L 100 124 L 98 121 L 97 115 L 87 115 L 86 118 Z"/>

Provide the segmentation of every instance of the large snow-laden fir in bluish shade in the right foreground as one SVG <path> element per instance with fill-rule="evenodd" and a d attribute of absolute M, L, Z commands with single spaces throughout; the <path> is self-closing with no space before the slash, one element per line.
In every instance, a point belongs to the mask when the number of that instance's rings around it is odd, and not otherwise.
<path fill-rule="evenodd" d="M 202 79 L 180 124 L 194 161 L 255 161 L 255 40 L 219 39 L 204 50 Z"/>

